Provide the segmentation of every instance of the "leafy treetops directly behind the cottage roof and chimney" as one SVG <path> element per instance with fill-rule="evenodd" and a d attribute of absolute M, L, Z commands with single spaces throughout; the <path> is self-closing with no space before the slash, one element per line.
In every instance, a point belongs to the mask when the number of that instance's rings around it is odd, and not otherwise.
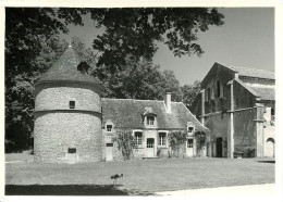
<path fill-rule="evenodd" d="M 173 101 L 180 101 L 182 97 L 174 73 L 161 72 L 158 65 L 144 58 L 127 58 L 125 67 L 116 73 L 99 67 L 95 72 L 103 87 L 102 97 L 106 98 L 162 100 L 167 91 L 172 92 Z"/>

